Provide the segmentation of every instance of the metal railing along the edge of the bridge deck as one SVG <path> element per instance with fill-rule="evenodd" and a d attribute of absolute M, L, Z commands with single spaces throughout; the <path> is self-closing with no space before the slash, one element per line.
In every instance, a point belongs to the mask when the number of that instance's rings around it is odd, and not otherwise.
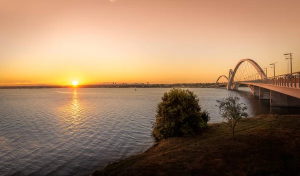
<path fill-rule="evenodd" d="M 265 84 L 275 85 L 280 87 L 300 89 L 299 79 L 300 79 L 300 71 L 289 73 L 289 74 L 266 77 L 263 79 L 243 81 L 243 82 L 265 83 Z"/>

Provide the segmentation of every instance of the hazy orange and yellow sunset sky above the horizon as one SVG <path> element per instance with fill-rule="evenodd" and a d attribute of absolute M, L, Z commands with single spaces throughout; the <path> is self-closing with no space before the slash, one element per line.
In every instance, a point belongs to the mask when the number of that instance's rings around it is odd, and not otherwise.
<path fill-rule="evenodd" d="M 0 84 L 213 82 L 293 52 L 300 0 L 0 0 Z M 269 68 L 269 75 L 272 69 Z"/>

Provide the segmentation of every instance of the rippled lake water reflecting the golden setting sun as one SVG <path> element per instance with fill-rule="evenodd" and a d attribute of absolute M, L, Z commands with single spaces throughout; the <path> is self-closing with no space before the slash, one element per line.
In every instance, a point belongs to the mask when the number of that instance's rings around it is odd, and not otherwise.
<path fill-rule="evenodd" d="M 222 119 L 221 88 L 189 88 L 210 115 Z M 0 89 L 0 175 L 80 175 L 154 144 L 156 105 L 169 88 Z M 249 116 L 291 114 L 240 88 Z"/>

